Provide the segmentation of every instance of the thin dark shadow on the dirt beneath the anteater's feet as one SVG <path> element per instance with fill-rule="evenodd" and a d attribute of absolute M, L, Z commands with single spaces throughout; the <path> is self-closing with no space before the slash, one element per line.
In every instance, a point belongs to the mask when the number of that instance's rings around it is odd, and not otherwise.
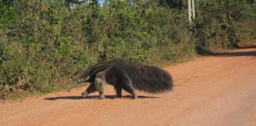
<path fill-rule="evenodd" d="M 115 99 L 115 95 L 105 95 L 105 98 L 108 99 Z M 131 95 L 125 95 L 122 96 L 122 98 L 132 98 Z M 153 96 L 137 96 L 137 98 L 158 98 Z M 82 98 L 81 96 L 61 96 L 61 97 L 50 97 L 50 98 L 44 98 L 46 100 L 59 100 L 59 99 L 72 99 L 72 100 L 79 100 L 79 99 L 99 99 L 99 95 L 88 95 L 86 98 Z"/>

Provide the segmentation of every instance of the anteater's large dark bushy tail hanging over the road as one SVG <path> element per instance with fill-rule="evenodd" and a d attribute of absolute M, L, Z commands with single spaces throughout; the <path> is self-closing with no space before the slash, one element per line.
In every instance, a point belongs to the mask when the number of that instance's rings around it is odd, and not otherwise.
<path fill-rule="evenodd" d="M 126 72 L 135 89 L 148 93 L 171 91 L 173 80 L 171 75 L 155 66 L 130 62 L 126 64 Z"/>

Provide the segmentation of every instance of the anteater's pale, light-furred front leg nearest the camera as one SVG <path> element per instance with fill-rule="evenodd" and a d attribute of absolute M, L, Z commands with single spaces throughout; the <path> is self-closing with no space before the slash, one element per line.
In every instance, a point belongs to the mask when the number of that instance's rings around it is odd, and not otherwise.
<path fill-rule="evenodd" d="M 104 93 L 105 93 L 105 87 L 107 85 L 105 76 L 106 76 L 106 71 L 99 72 L 96 75 L 95 82 L 94 82 L 97 91 L 99 91 L 99 93 L 100 93 L 100 97 L 99 97 L 100 99 L 105 98 Z"/>

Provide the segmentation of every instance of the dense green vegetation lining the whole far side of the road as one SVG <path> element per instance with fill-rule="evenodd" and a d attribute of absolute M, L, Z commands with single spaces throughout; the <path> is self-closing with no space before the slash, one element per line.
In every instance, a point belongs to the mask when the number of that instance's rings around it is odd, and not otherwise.
<path fill-rule="evenodd" d="M 0 0 L 0 97 L 46 93 L 89 65 L 163 65 L 256 38 L 252 0 Z"/>

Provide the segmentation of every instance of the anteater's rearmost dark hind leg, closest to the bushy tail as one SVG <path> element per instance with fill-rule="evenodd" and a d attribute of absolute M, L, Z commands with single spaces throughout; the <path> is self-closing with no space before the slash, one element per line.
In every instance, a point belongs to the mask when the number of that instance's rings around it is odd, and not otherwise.
<path fill-rule="evenodd" d="M 119 80 L 120 84 L 122 84 L 122 88 L 129 92 L 131 95 L 133 95 L 133 98 L 134 99 L 137 99 L 137 93 L 136 91 L 134 90 L 134 87 L 133 87 L 133 83 L 132 81 L 130 80 L 130 77 L 129 76 L 122 76 L 122 79 Z"/>

